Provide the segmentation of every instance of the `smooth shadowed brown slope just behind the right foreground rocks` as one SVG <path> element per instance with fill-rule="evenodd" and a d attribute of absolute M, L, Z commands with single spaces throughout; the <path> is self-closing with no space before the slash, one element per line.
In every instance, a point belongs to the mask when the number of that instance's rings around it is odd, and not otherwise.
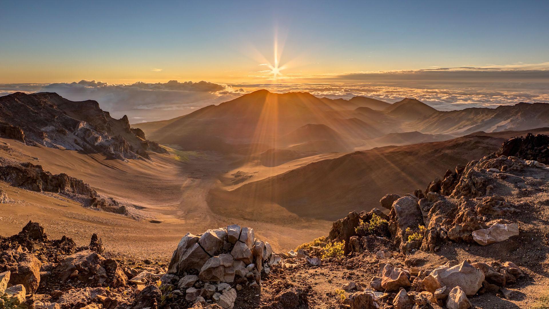
<path fill-rule="evenodd" d="M 244 184 L 232 191 L 211 191 L 210 205 L 220 211 L 252 211 L 279 205 L 300 217 L 334 219 L 377 207 L 385 192 L 406 194 L 424 187 L 449 167 L 495 152 L 511 132 L 481 133 L 447 141 L 357 151 Z M 546 133 L 537 130 L 537 133 Z M 271 205 L 271 206 L 268 206 Z"/>

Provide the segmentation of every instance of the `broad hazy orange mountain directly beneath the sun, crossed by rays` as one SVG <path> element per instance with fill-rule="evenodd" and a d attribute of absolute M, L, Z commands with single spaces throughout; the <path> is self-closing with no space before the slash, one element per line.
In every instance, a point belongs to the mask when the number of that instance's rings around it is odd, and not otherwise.
<path fill-rule="evenodd" d="M 353 111 L 354 105 L 351 109 L 341 108 L 340 101 L 320 99 L 304 92 L 280 94 L 258 90 L 182 117 L 135 126 L 161 144 L 223 152 L 234 151 L 230 149 L 231 145 L 254 144 L 272 148 L 284 135 L 307 124 L 326 125 L 341 135 L 349 132 L 376 137 L 383 135 L 378 133 L 380 125 L 357 126 L 355 120 L 347 122 L 345 119 L 362 116 Z M 206 146 L 197 144 L 197 141 Z M 190 148 L 191 145 L 199 148 Z"/>

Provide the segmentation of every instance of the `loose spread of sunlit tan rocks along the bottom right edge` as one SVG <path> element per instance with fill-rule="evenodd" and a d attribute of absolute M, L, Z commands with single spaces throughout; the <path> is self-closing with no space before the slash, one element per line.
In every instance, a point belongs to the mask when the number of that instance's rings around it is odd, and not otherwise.
<path fill-rule="evenodd" d="M 379 263 L 378 273 L 369 287 L 353 284 L 357 290 L 344 300 L 351 309 L 394 307 L 395 309 L 472 307 L 468 297 L 505 290 L 516 282 L 522 271 L 512 262 L 458 263 L 450 261 L 435 269 L 394 267 Z M 508 281 L 506 281 L 508 280 Z"/>

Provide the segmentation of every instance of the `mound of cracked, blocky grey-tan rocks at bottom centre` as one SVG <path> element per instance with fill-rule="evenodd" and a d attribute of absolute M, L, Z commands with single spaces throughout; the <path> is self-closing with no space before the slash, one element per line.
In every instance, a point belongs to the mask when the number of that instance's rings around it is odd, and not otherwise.
<path fill-rule="evenodd" d="M 237 290 L 259 288 L 261 273 L 268 273 L 279 260 L 268 242 L 255 239 L 254 229 L 228 225 L 184 235 L 164 281 L 173 286 L 170 295 L 182 295 L 180 303 L 232 308 Z"/>

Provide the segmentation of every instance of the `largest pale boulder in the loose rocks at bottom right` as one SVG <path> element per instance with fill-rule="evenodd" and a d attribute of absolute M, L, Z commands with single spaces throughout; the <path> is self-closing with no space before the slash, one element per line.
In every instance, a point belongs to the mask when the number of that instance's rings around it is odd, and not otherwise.
<path fill-rule="evenodd" d="M 484 272 L 474 268 L 471 264 L 463 261 L 456 266 L 449 265 L 435 268 L 427 277 L 423 279 L 425 290 L 435 294 L 435 291 L 446 286 L 444 291 L 448 295 L 456 286 L 461 286 L 468 296 L 477 294 L 484 281 Z M 440 291 L 439 291 L 440 293 Z M 438 297 L 437 297 L 438 298 Z"/>

